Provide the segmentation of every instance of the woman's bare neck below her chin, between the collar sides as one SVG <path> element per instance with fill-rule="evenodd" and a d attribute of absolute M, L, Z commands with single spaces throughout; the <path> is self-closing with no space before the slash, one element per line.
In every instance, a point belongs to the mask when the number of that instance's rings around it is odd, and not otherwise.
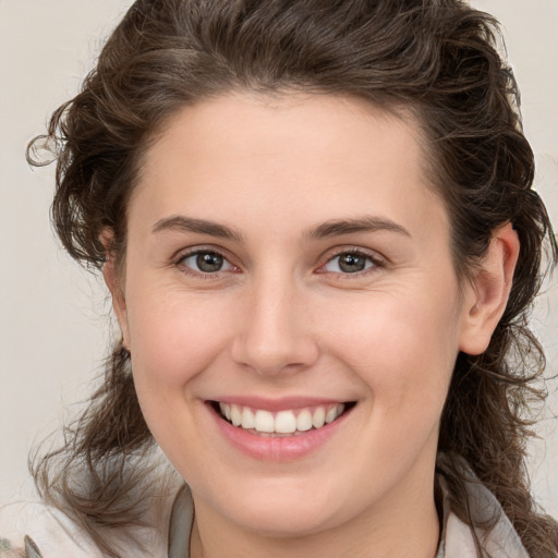
<path fill-rule="evenodd" d="M 400 487 L 400 495 L 387 495 L 349 521 L 295 536 L 243 530 L 196 501 L 191 558 L 434 558 L 440 527 L 434 480 L 425 484 Z"/>

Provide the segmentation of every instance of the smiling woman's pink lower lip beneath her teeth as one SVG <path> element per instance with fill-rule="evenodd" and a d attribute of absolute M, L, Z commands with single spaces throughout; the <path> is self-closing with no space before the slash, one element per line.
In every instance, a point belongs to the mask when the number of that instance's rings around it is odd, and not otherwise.
<path fill-rule="evenodd" d="M 296 436 L 272 438 L 233 426 L 225 421 L 210 404 L 207 407 L 225 438 L 238 450 L 262 461 L 294 461 L 318 450 L 336 434 L 350 413 L 350 411 L 344 412 L 322 428 Z"/>

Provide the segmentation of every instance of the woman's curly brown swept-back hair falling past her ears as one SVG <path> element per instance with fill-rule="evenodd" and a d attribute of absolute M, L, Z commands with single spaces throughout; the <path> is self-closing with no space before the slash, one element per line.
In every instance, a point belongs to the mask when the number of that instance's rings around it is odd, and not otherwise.
<path fill-rule="evenodd" d="M 427 138 L 434 186 L 452 223 L 459 277 L 466 280 L 490 235 L 511 222 L 521 253 L 506 312 L 486 352 L 459 354 L 441 418 L 439 450 L 450 469 L 454 513 L 471 523 L 464 458 L 500 501 L 533 558 L 556 557 L 558 525 L 533 501 L 525 470 L 531 410 L 545 399 L 544 354 L 527 327 L 550 222 L 532 190 L 534 158 L 519 92 L 497 48 L 498 24 L 460 0 L 137 0 L 75 98 L 52 116 L 52 220 L 77 260 L 101 269 L 106 228 L 125 256 L 126 206 L 143 155 L 181 108 L 230 90 L 354 95 L 413 112 Z M 69 510 L 109 555 L 102 533 L 140 524 L 131 487 L 154 447 L 129 353 L 119 343 L 106 380 L 66 445 L 34 466 L 46 500 Z M 134 465 L 131 466 L 131 463 Z M 80 482 L 76 482 L 80 480 Z M 145 496 L 145 495 L 144 495 Z M 482 550 L 478 547 L 480 555 Z"/>

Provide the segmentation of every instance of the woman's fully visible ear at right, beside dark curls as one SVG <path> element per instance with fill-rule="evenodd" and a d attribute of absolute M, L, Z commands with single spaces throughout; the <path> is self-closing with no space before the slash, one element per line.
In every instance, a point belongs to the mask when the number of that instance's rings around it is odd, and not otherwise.
<path fill-rule="evenodd" d="M 462 352 L 481 354 L 488 347 L 508 303 L 519 251 L 518 233 L 511 223 L 494 231 L 465 294 L 459 347 Z"/>

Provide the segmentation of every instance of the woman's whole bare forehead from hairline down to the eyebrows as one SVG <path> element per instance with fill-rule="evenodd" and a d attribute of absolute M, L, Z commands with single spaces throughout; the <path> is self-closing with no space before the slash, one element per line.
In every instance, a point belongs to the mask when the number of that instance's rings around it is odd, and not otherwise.
<path fill-rule="evenodd" d="M 268 209 L 292 223 L 376 210 L 430 219 L 441 202 L 424 171 L 424 145 L 410 113 L 363 99 L 227 95 L 169 120 L 131 204 L 141 197 L 151 222 L 178 210 L 226 210 L 234 221 L 251 208 L 260 227 L 271 225 Z"/>

